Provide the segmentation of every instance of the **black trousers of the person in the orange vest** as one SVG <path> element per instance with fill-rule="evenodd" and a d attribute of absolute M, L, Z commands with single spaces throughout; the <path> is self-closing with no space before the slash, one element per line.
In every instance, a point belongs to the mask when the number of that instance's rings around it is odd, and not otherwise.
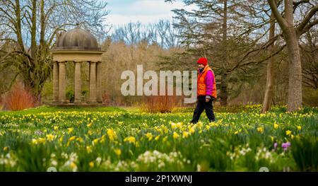
<path fill-rule="evenodd" d="M 208 102 L 206 102 L 206 96 L 198 97 L 196 109 L 194 110 L 193 118 L 191 121 L 192 123 L 197 123 L 199 121 L 201 113 L 204 110 L 206 110 L 206 116 L 208 117 L 208 120 L 210 120 L 210 122 L 216 121 L 216 117 L 214 116 L 214 112 L 213 112 L 213 105 L 212 105 L 213 100 L 214 98 L 211 98 Z"/>

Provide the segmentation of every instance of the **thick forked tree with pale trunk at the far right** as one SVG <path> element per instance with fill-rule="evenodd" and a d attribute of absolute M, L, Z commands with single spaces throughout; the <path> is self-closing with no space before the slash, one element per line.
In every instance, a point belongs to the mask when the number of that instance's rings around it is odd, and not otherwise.
<path fill-rule="evenodd" d="M 314 3 L 312 3 L 314 2 Z M 278 25 L 283 31 L 283 37 L 286 42 L 289 62 L 289 84 L 288 84 L 288 111 L 295 111 L 302 108 L 302 66 L 300 59 L 299 38 L 300 35 L 310 30 L 312 26 L 318 24 L 317 1 L 298 1 L 284 0 L 282 14 L 274 0 L 268 0 L 271 11 L 275 16 Z M 309 5 L 310 9 L 307 15 L 300 21 L 294 23 L 294 10 L 303 4 Z M 316 16 L 315 16 L 316 15 Z"/>

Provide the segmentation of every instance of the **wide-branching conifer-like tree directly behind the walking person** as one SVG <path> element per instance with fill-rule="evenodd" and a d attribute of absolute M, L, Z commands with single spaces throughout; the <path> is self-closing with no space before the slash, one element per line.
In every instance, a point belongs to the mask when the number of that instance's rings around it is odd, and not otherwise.
<path fill-rule="evenodd" d="M 242 4 L 235 0 L 184 0 L 184 4 L 197 8 L 192 11 L 174 10 L 175 18 L 179 20 L 175 27 L 179 28 L 181 43 L 188 48 L 189 53 L 211 58 L 213 69 L 220 75 L 220 104 L 227 105 L 230 92 L 228 83 L 234 71 L 244 71 L 242 76 L 249 76 L 246 73 L 249 69 L 258 67 L 283 50 L 281 47 L 273 50 L 273 54 L 262 54 L 278 39 L 275 37 L 269 42 L 264 40 L 269 32 L 269 7 L 263 1 Z"/>

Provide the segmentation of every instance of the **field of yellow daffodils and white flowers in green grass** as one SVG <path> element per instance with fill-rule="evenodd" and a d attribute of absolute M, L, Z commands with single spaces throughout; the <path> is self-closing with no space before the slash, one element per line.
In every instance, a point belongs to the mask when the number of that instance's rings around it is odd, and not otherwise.
<path fill-rule="evenodd" d="M 317 107 L 260 109 L 0 112 L 0 171 L 317 171 Z"/>

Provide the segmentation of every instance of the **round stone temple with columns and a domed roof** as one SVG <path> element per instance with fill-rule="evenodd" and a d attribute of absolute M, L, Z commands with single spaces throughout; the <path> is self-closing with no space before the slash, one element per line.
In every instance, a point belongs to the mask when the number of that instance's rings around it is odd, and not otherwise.
<path fill-rule="evenodd" d="M 74 62 L 74 105 L 81 100 L 81 64 L 88 62 L 89 104 L 102 103 L 101 62 L 102 53 L 96 38 L 88 31 L 76 27 L 62 33 L 51 51 L 53 57 L 53 104 L 66 105 L 66 62 Z"/>

